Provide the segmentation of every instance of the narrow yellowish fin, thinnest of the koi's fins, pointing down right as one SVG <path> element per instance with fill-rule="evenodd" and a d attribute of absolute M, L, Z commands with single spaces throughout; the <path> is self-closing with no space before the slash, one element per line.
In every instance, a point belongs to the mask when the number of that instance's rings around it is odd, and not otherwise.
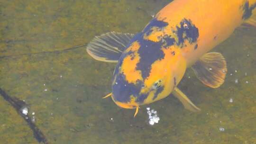
<path fill-rule="evenodd" d="M 197 108 L 192 103 L 192 101 L 190 101 L 190 99 L 181 90 L 179 90 L 177 87 L 174 88 L 172 94 L 182 102 L 183 106 L 186 109 L 191 110 L 193 112 L 201 111 L 201 109 Z"/>

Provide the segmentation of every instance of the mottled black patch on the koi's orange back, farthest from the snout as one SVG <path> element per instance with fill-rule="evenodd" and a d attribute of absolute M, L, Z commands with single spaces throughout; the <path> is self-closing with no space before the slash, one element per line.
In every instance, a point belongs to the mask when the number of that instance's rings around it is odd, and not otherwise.
<path fill-rule="evenodd" d="M 195 43 L 199 36 L 198 28 L 192 24 L 190 19 L 184 18 L 180 22 L 180 26 L 176 26 L 177 31 L 174 31 L 178 36 L 177 44 L 183 47 L 185 40 L 190 44 Z"/>

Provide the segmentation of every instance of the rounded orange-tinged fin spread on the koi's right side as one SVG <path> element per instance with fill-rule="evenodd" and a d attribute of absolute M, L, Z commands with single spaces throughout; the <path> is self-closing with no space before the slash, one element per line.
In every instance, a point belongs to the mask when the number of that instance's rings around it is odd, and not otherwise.
<path fill-rule="evenodd" d="M 220 53 L 204 54 L 192 65 L 197 78 L 211 88 L 218 88 L 225 80 L 227 63 Z"/>

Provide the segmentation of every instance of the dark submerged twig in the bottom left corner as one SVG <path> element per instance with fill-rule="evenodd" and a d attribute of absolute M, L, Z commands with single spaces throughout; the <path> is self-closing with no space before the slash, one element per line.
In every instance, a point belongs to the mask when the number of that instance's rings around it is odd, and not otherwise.
<path fill-rule="evenodd" d="M 4 90 L 2 90 L 0 88 L 0 95 L 3 97 L 3 99 L 5 99 L 7 102 L 9 102 L 9 104 L 11 104 L 11 106 L 13 108 L 15 108 L 15 110 L 17 111 L 17 113 L 23 117 L 23 119 L 27 122 L 27 125 L 30 127 L 30 129 L 33 131 L 34 133 L 34 137 L 37 139 L 37 141 L 39 143 L 44 143 L 44 144 L 49 144 L 47 142 L 46 136 L 42 133 L 42 131 L 35 125 L 35 123 L 33 123 L 31 117 L 29 117 L 28 115 L 24 115 L 21 110 L 22 108 L 24 108 L 27 104 L 22 101 L 19 100 L 17 98 L 12 98 L 10 97 Z"/>

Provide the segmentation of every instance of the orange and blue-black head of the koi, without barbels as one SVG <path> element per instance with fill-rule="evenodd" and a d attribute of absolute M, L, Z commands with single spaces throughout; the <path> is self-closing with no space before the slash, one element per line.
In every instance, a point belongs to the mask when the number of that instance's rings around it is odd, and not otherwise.
<path fill-rule="evenodd" d="M 133 46 L 142 47 L 138 42 Z M 128 49 L 114 72 L 112 99 L 121 108 L 137 108 L 163 99 L 182 79 L 185 69 L 186 62 L 178 48 L 160 46 L 158 52 L 152 53 Z"/>

